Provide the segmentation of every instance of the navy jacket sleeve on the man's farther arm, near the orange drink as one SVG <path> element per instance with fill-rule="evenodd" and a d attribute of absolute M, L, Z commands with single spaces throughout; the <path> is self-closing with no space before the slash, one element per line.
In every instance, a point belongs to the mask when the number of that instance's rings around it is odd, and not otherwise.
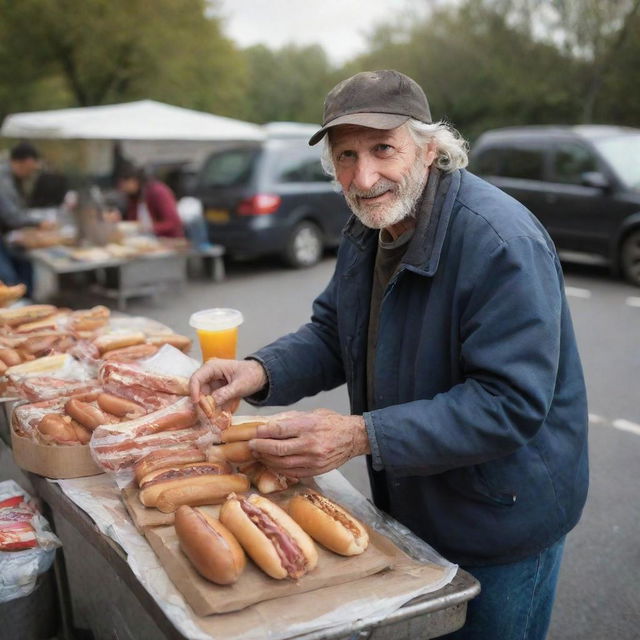
<path fill-rule="evenodd" d="M 256 406 L 287 405 L 345 382 L 336 322 L 336 275 L 313 303 L 311 321 L 249 358 L 264 366 L 268 388 L 250 398 Z"/>

